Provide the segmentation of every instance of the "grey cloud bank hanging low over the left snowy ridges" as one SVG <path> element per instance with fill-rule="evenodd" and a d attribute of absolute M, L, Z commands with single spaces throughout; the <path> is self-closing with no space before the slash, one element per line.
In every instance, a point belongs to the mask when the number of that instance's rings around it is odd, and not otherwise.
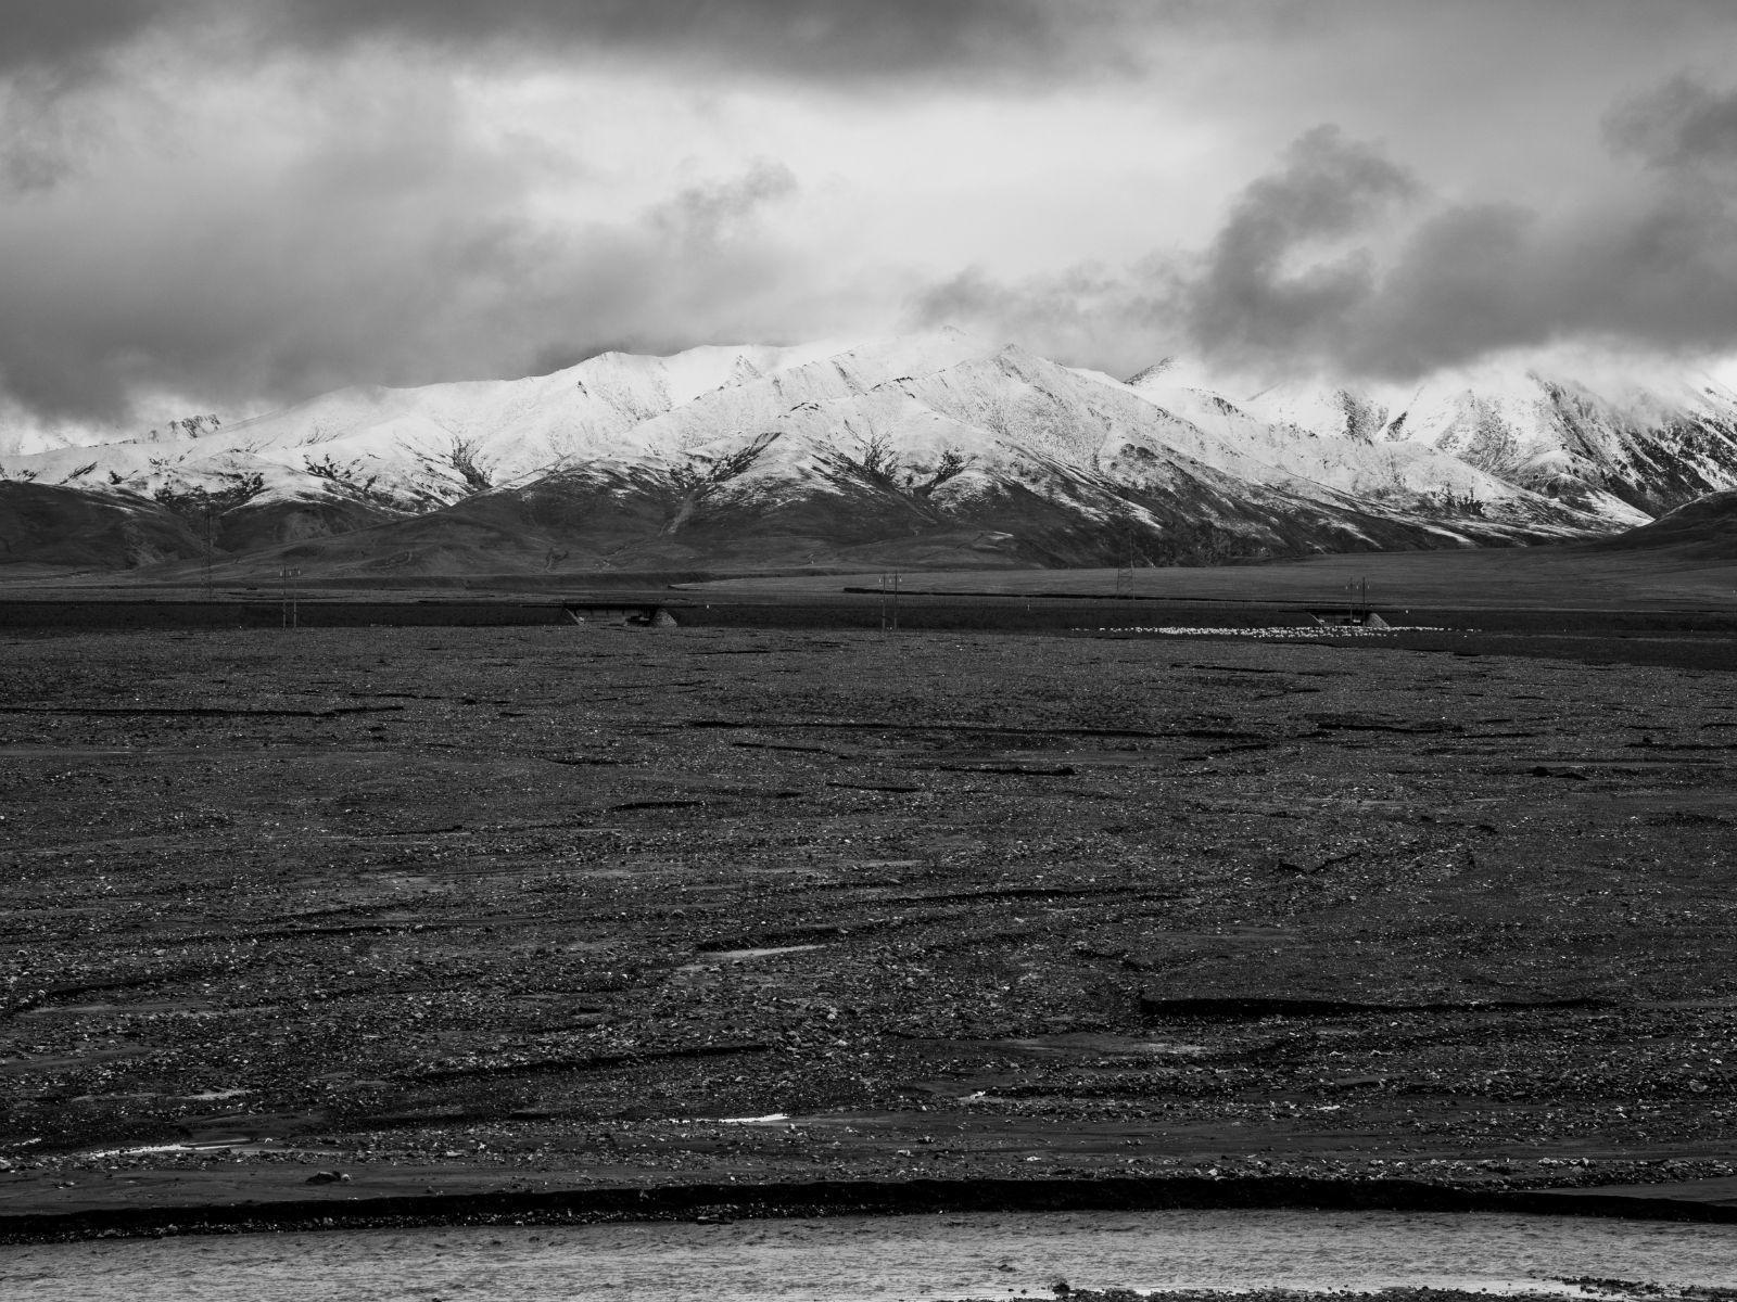
<path fill-rule="evenodd" d="M 776 330 L 757 307 L 804 271 L 759 220 L 796 193 L 775 163 L 556 222 L 445 89 L 387 95 L 358 71 L 321 94 L 318 130 L 273 149 L 129 155 L 0 207 L 0 385 L 49 418 L 125 422 L 151 392 L 234 410 L 519 375 L 670 323 Z"/>

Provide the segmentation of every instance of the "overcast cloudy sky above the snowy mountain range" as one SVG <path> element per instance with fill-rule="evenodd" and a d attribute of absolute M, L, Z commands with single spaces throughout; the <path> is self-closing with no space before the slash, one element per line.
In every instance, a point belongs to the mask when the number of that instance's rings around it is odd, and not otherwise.
<path fill-rule="evenodd" d="M 1737 354 L 1730 0 L 0 0 L 0 420 L 955 323 Z"/>

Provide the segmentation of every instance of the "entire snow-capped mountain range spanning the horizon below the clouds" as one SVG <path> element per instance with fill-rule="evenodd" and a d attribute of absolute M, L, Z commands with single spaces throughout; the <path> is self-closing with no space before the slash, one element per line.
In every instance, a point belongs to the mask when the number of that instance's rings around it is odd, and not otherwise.
<path fill-rule="evenodd" d="M 394 529 L 488 519 L 575 564 L 769 540 L 813 557 L 948 536 L 1058 564 L 1530 542 L 1737 486 L 1737 394 L 1711 382 L 1489 370 L 1240 392 L 1183 361 L 1124 382 L 955 330 L 610 352 L 175 432 L 12 457 L 5 476 L 214 516 L 228 550 L 365 524 L 394 549 Z"/>

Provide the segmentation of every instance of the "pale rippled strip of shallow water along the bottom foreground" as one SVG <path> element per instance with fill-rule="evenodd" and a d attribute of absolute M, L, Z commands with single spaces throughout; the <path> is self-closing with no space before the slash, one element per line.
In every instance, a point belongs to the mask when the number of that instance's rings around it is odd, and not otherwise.
<path fill-rule="evenodd" d="M 1402 1212 L 1080 1212 L 495 1226 L 0 1248 L 0 1299 L 889 1302 L 1152 1288 L 1737 1286 L 1737 1226 Z"/>

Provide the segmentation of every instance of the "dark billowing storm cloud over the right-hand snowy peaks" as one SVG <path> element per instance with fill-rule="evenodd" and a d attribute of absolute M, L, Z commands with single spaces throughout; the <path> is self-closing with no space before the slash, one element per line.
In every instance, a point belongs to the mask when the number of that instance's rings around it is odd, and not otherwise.
<path fill-rule="evenodd" d="M 1560 212 L 1450 203 L 1334 127 L 1301 135 L 1199 252 L 936 283 L 917 321 L 1020 332 L 1127 368 L 1186 351 L 1251 373 L 1416 378 L 1506 349 L 1737 349 L 1737 92 L 1678 78 L 1608 118 L 1638 174 Z M 1150 340 L 1143 352 L 1126 340 Z"/>

